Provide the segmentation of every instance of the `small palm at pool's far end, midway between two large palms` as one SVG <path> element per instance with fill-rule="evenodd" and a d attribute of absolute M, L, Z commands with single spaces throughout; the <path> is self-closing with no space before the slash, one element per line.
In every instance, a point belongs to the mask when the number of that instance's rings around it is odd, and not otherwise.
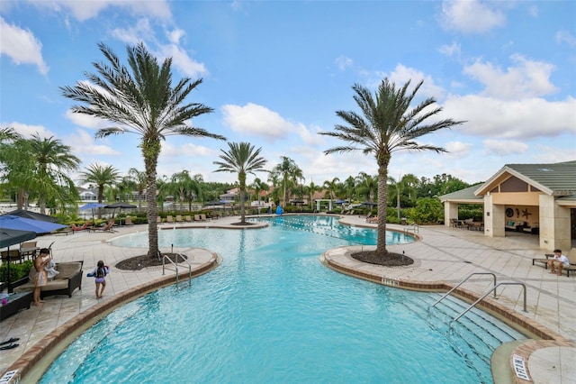
<path fill-rule="evenodd" d="M 229 142 L 229 151 L 220 150 L 222 161 L 214 161 L 220 168 L 214 172 L 238 173 L 238 187 L 240 189 L 240 224 L 247 224 L 244 204 L 246 203 L 246 177 L 248 173 L 256 176 L 257 171 L 263 171 L 266 160 L 260 157 L 262 148 L 254 150 L 249 142 Z"/>

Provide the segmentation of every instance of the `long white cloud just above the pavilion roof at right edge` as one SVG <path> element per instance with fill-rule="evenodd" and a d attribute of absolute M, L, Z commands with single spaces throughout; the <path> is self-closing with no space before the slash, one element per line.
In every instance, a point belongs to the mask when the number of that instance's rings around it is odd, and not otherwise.
<path fill-rule="evenodd" d="M 444 117 L 466 120 L 458 130 L 481 137 L 532 139 L 576 133 L 576 99 L 549 102 L 542 98 L 501 100 L 483 96 L 453 96 Z"/>

